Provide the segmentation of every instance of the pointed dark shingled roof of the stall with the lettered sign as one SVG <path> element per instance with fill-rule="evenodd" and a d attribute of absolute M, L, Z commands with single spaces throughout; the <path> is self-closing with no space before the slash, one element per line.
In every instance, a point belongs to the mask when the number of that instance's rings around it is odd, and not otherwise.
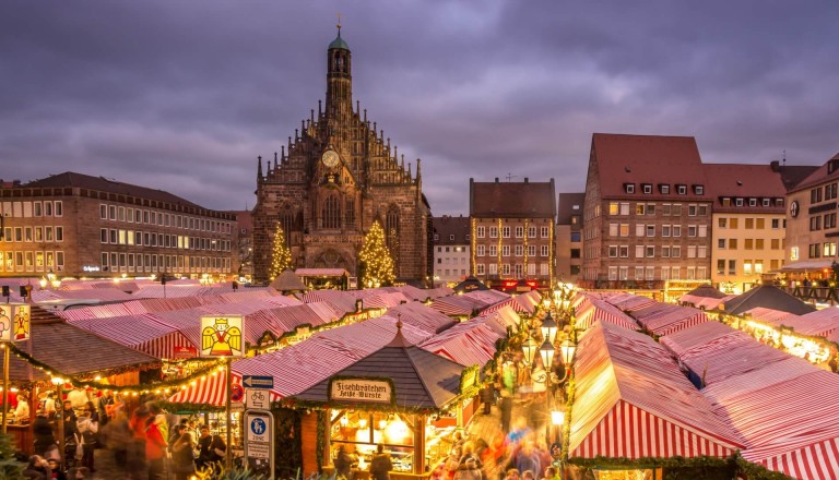
<path fill-rule="evenodd" d="M 442 408 L 460 394 L 464 367 L 410 345 L 397 331 L 390 344 L 346 367 L 335 376 L 385 376 L 393 382 L 397 408 Z M 330 379 L 323 380 L 295 397 L 329 401 Z"/>

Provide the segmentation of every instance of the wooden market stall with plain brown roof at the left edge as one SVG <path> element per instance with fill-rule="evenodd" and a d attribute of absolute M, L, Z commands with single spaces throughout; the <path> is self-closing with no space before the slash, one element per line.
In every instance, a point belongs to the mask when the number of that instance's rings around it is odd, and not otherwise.
<path fill-rule="evenodd" d="M 21 452 L 33 453 L 32 425 L 37 413 L 46 413 L 39 411 L 39 400 L 55 395 L 59 408 L 61 397 L 70 399 L 74 408 L 82 408 L 105 391 L 125 391 L 126 401 L 130 403 L 143 391 L 142 385 L 159 380 L 157 358 L 73 326 L 39 307 L 29 307 L 29 339 L 9 347 L 10 392 L 25 396 L 29 407 L 28 415 L 11 418 L 14 423 L 5 425 Z M 61 432 L 62 427 L 58 429 Z M 57 437 L 63 444 L 62 435 Z"/>

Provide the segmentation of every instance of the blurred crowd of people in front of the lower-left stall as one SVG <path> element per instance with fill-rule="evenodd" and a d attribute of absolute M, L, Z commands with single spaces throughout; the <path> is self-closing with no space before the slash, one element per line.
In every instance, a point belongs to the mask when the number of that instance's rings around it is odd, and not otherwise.
<path fill-rule="evenodd" d="M 223 465 L 227 445 L 220 435 L 210 433 L 209 425 L 187 418 L 177 421 L 155 401 L 128 411 L 113 393 L 95 399 L 95 404 L 86 400 L 81 408 L 63 400 L 60 420 L 55 409 L 50 411 L 48 399 L 42 403 L 33 424 L 35 455 L 28 459 L 24 478 L 87 478 L 96 471 L 97 448 L 111 456 L 118 479 L 187 480 L 197 470 L 217 471 Z M 63 455 L 57 441 L 60 431 L 64 435 Z"/>

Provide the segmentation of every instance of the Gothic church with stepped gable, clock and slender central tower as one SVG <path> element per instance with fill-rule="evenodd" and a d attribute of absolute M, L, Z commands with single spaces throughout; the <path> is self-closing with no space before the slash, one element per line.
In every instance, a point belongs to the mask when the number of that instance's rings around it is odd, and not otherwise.
<path fill-rule="evenodd" d="M 327 50 L 327 65 L 326 103 L 318 103 L 273 163 L 263 169 L 259 158 L 255 279 L 269 280 L 277 225 L 296 267 L 338 267 L 356 275 L 365 233 L 378 220 L 398 280 L 427 285 L 432 221 L 420 159 L 405 164 L 367 110 L 353 104 L 352 56 L 340 29 Z"/>

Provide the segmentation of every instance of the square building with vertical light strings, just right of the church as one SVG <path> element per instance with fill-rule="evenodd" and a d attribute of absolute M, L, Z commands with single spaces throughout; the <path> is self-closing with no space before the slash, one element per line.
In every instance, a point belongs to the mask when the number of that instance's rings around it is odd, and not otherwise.
<path fill-rule="evenodd" d="M 519 280 L 551 288 L 555 268 L 556 193 L 548 182 L 469 179 L 472 275 L 493 288 Z"/>

